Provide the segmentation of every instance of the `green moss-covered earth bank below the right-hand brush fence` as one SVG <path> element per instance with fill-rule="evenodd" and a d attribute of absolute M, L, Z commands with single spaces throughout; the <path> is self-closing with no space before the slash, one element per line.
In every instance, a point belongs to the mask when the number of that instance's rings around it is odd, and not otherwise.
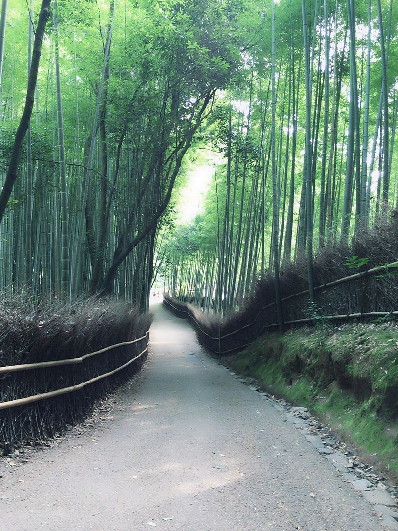
<path fill-rule="evenodd" d="M 267 334 L 223 363 L 306 406 L 368 461 L 398 478 L 398 327 L 350 324 Z"/>

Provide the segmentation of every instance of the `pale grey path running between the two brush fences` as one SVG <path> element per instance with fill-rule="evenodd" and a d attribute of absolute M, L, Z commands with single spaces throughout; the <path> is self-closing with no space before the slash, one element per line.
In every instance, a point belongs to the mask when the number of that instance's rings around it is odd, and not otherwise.
<path fill-rule="evenodd" d="M 383 529 L 293 424 L 202 352 L 188 323 L 152 310 L 150 361 L 111 418 L 3 468 L 1 531 Z"/>

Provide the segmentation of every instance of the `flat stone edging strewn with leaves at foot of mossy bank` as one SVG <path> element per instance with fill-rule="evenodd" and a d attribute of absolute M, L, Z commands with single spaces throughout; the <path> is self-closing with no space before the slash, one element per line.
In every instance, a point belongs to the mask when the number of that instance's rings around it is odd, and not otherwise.
<path fill-rule="evenodd" d="M 229 367 L 226 369 L 256 392 L 261 400 L 268 401 L 285 415 L 285 422 L 294 424 L 301 435 L 335 467 L 336 472 L 364 496 L 383 524 L 398 531 L 398 487 L 387 487 L 382 478 L 372 472 L 372 466 L 361 463 L 344 443 L 326 433 L 324 426 L 309 415 L 307 408 L 290 406 L 285 400 L 271 397 L 262 391 L 255 379 L 241 376 Z"/>

